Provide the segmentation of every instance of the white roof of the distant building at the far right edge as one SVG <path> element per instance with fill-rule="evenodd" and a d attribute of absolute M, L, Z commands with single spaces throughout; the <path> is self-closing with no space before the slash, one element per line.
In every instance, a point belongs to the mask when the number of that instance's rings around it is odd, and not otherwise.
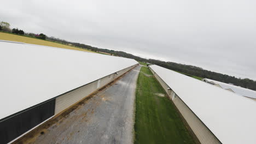
<path fill-rule="evenodd" d="M 238 86 L 230 85 L 228 83 L 215 81 L 215 80 L 211 80 L 211 79 L 206 79 L 206 80 L 209 81 L 209 82 L 212 81 L 215 84 L 219 84 L 224 89 L 229 89 L 230 88 L 230 89 L 232 89 L 232 91 L 234 91 L 235 93 L 240 94 L 242 96 L 256 99 L 256 91 L 253 91 L 251 89 L 238 87 Z"/>

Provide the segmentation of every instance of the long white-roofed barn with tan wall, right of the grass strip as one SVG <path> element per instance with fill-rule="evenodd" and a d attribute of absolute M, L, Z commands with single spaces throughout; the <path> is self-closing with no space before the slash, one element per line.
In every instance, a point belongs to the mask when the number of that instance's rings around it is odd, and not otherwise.
<path fill-rule="evenodd" d="M 253 100 L 157 65 L 149 69 L 201 143 L 256 143 Z"/>

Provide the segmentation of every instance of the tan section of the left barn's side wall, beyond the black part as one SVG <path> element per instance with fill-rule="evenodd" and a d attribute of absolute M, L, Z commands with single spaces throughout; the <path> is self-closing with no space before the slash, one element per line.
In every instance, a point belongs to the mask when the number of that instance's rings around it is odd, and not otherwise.
<path fill-rule="evenodd" d="M 72 106 L 78 101 L 88 97 L 91 93 L 97 91 L 98 89 L 106 86 L 109 82 L 112 82 L 113 80 L 117 79 L 119 76 L 125 74 L 127 71 L 134 68 L 136 65 L 132 65 L 131 67 L 120 70 L 117 73 L 108 75 L 106 77 L 103 77 L 102 79 L 91 82 L 88 85 L 79 87 L 77 89 L 74 89 L 71 92 L 60 95 L 59 97 L 56 98 L 55 115 L 64 111 L 69 106 Z"/>

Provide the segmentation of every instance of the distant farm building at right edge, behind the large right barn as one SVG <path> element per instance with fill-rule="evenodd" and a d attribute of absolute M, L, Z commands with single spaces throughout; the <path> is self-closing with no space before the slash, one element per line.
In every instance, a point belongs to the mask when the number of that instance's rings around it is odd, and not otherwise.
<path fill-rule="evenodd" d="M 214 80 L 211 80 L 211 79 L 203 79 L 203 81 L 211 83 L 214 86 L 224 88 L 224 89 L 226 89 L 230 92 L 234 92 L 236 94 L 242 95 L 244 97 L 247 97 L 249 99 L 252 99 L 252 100 L 256 101 L 256 92 L 251 90 L 251 89 L 238 87 L 238 86 L 235 86 L 235 85 L 231 85 L 229 83 L 214 81 Z"/>

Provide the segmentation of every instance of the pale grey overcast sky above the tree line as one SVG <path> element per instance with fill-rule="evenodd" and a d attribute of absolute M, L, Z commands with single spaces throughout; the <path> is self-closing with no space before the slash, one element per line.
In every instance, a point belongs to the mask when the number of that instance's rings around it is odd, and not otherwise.
<path fill-rule="evenodd" d="M 256 80 L 256 1 L 3 1 L 0 21 Z"/>

